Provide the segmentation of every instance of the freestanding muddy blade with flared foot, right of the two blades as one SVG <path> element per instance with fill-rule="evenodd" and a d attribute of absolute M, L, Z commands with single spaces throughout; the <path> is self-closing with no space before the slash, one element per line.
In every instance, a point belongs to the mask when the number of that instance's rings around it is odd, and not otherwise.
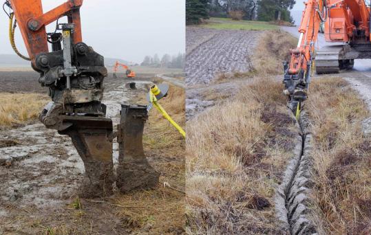
<path fill-rule="evenodd" d="M 143 150 L 143 131 L 147 120 L 147 106 L 121 105 L 116 181 L 121 192 L 155 188 L 158 184 L 160 174 L 149 164 Z"/>

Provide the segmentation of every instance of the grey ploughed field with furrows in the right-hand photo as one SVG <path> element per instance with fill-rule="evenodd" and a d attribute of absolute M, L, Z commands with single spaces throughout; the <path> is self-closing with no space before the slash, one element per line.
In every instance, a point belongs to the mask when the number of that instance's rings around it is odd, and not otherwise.
<path fill-rule="evenodd" d="M 212 107 L 215 96 L 230 96 L 240 87 L 239 82 L 213 83 L 220 76 L 252 69 L 250 56 L 261 33 L 187 27 L 187 120 Z"/>

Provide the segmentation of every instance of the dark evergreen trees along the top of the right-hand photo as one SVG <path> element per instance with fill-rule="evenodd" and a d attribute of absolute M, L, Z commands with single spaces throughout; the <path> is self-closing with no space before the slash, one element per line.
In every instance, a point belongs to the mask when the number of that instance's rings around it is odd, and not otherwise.
<path fill-rule="evenodd" d="M 249 21 L 288 21 L 293 23 L 290 10 L 295 0 L 186 0 L 187 24 L 200 23 L 209 17 L 228 17 L 242 12 Z"/>

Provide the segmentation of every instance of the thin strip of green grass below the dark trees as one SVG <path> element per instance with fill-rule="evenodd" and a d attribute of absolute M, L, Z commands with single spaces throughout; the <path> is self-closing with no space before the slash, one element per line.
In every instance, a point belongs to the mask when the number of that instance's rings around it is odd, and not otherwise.
<path fill-rule="evenodd" d="M 278 26 L 263 21 L 233 21 L 228 18 L 211 18 L 202 27 L 215 30 L 277 30 Z"/>

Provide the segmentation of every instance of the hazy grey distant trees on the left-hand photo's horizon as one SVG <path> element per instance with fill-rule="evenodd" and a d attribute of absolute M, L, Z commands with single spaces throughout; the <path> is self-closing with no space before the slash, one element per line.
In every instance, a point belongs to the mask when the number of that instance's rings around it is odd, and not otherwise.
<path fill-rule="evenodd" d="M 165 54 L 162 56 L 161 59 L 158 56 L 158 54 L 155 54 L 153 57 L 145 56 L 145 59 L 140 65 L 149 67 L 183 69 L 185 65 L 185 54 L 179 53 L 178 55 L 175 56 Z"/>

